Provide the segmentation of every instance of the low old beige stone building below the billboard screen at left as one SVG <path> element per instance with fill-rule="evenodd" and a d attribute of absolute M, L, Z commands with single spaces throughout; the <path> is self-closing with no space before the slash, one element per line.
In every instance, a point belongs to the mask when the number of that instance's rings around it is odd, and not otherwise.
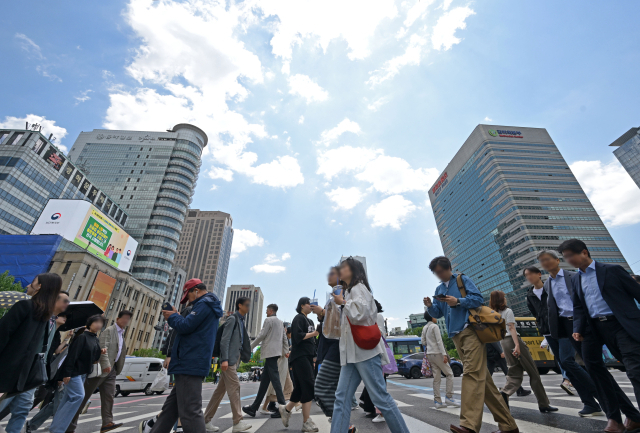
<path fill-rule="evenodd" d="M 162 295 L 66 239 L 60 242 L 49 272 L 62 277 L 62 290 L 69 292 L 72 302 L 89 300 L 98 278 L 106 276 L 108 281 L 115 280 L 104 312 L 107 324 L 112 325 L 120 311 L 131 311 L 133 317 L 124 336 L 127 355 L 136 349 L 151 347 L 156 332 L 154 325 L 162 309 Z"/>

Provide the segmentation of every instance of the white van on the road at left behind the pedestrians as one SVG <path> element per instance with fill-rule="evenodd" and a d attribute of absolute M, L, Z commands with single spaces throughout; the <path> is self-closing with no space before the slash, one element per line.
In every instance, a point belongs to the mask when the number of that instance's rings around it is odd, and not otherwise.
<path fill-rule="evenodd" d="M 116 377 L 116 397 L 123 397 L 132 392 L 144 392 L 145 395 L 153 395 L 151 384 L 156 375 L 162 370 L 163 360 L 160 358 L 140 358 L 127 356 L 122 372 Z M 162 394 L 164 391 L 155 391 Z"/>

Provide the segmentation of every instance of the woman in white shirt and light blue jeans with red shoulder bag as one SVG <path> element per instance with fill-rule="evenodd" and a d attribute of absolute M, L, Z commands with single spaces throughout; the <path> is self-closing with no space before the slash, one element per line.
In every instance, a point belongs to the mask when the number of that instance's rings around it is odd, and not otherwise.
<path fill-rule="evenodd" d="M 351 332 L 351 326 L 354 325 L 377 327 L 378 308 L 371 294 L 364 266 L 358 260 L 349 257 L 340 265 L 340 279 L 345 283 L 345 294 L 334 295 L 334 299 L 336 304 L 344 305 L 340 329 L 342 367 L 333 407 L 331 433 L 349 431 L 351 397 L 360 382 L 364 382 L 371 401 L 384 415 L 389 430 L 392 433 L 409 433 L 398 406 L 387 392 L 382 374 L 382 365 L 391 362 L 384 341 L 380 338 L 373 349 L 363 349 L 355 343 Z"/>

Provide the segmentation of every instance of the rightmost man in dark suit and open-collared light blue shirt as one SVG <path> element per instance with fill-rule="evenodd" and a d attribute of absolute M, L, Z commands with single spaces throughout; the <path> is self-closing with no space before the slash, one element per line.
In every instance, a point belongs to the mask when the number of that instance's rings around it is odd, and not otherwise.
<path fill-rule="evenodd" d="M 584 242 L 570 239 L 558 251 L 579 271 L 571 277 L 573 288 L 573 338 L 582 342 L 582 359 L 594 379 L 600 402 L 606 408 L 609 423 L 605 432 L 640 432 L 639 412 L 630 411 L 615 380 L 602 361 L 602 346 L 607 345 L 621 361 L 631 381 L 636 399 L 640 397 L 640 284 L 619 265 L 591 259 Z M 633 405 L 632 405 L 633 407 Z M 622 425 L 620 411 L 627 420 Z"/>

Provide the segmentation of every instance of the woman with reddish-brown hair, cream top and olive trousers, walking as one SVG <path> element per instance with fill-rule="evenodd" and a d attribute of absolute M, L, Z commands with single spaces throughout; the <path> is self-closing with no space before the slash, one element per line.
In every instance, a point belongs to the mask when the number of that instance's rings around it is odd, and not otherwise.
<path fill-rule="evenodd" d="M 556 412 L 558 408 L 552 407 L 549 403 L 549 397 L 547 397 L 547 393 L 544 390 L 538 367 L 536 367 L 531 352 L 529 352 L 527 344 L 522 341 L 520 335 L 516 332 L 516 318 L 511 308 L 507 307 L 507 299 L 504 292 L 500 290 L 491 292 L 489 306 L 492 310 L 500 313 L 507 324 L 508 335 L 500 341 L 504 357 L 509 366 L 507 383 L 500 391 L 507 406 L 509 406 L 509 396 L 513 395 L 522 385 L 524 371 L 526 371 L 529 375 L 531 390 L 536 395 L 536 399 L 538 399 L 540 412 Z"/>

